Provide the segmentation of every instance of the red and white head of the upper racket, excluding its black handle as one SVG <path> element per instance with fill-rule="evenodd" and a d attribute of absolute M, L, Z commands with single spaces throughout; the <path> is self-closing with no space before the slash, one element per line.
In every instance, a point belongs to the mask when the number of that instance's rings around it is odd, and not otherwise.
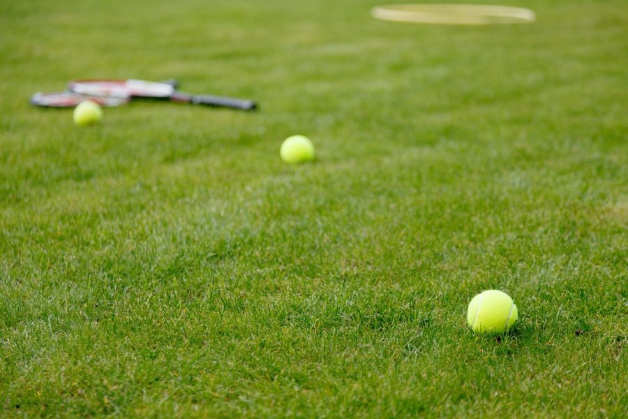
<path fill-rule="evenodd" d="M 144 80 L 84 79 L 68 83 L 68 89 L 90 96 L 113 98 L 170 98 L 174 86 L 168 82 L 147 82 Z"/>

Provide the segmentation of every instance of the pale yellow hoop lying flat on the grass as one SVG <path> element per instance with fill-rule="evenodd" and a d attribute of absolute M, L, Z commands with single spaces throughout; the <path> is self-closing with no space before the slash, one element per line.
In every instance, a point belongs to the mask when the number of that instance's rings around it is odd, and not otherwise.
<path fill-rule="evenodd" d="M 371 15 L 380 20 L 433 24 L 518 24 L 537 19 L 526 8 L 483 4 L 394 4 L 377 6 Z"/>

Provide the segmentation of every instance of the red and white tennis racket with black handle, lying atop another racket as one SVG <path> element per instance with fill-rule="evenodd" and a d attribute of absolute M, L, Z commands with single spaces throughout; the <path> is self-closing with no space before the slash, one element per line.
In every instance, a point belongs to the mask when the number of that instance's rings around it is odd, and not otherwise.
<path fill-rule="evenodd" d="M 74 80 L 68 83 L 68 90 L 87 96 L 121 98 L 164 99 L 174 102 L 193 103 L 219 108 L 254 110 L 257 105 L 248 99 L 227 98 L 205 94 L 189 94 L 178 91 L 172 84 L 147 82 L 144 80 Z"/>

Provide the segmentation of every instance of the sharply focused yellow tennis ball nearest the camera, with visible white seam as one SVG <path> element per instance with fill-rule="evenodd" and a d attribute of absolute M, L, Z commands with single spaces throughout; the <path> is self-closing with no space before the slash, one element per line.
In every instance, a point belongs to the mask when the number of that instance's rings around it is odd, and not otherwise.
<path fill-rule="evenodd" d="M 517 306 L 507 293 L 488 290 L 469 303 L 467 321 L 474 332 L 495 335 L 509 330 L 517 320 Z"/>

